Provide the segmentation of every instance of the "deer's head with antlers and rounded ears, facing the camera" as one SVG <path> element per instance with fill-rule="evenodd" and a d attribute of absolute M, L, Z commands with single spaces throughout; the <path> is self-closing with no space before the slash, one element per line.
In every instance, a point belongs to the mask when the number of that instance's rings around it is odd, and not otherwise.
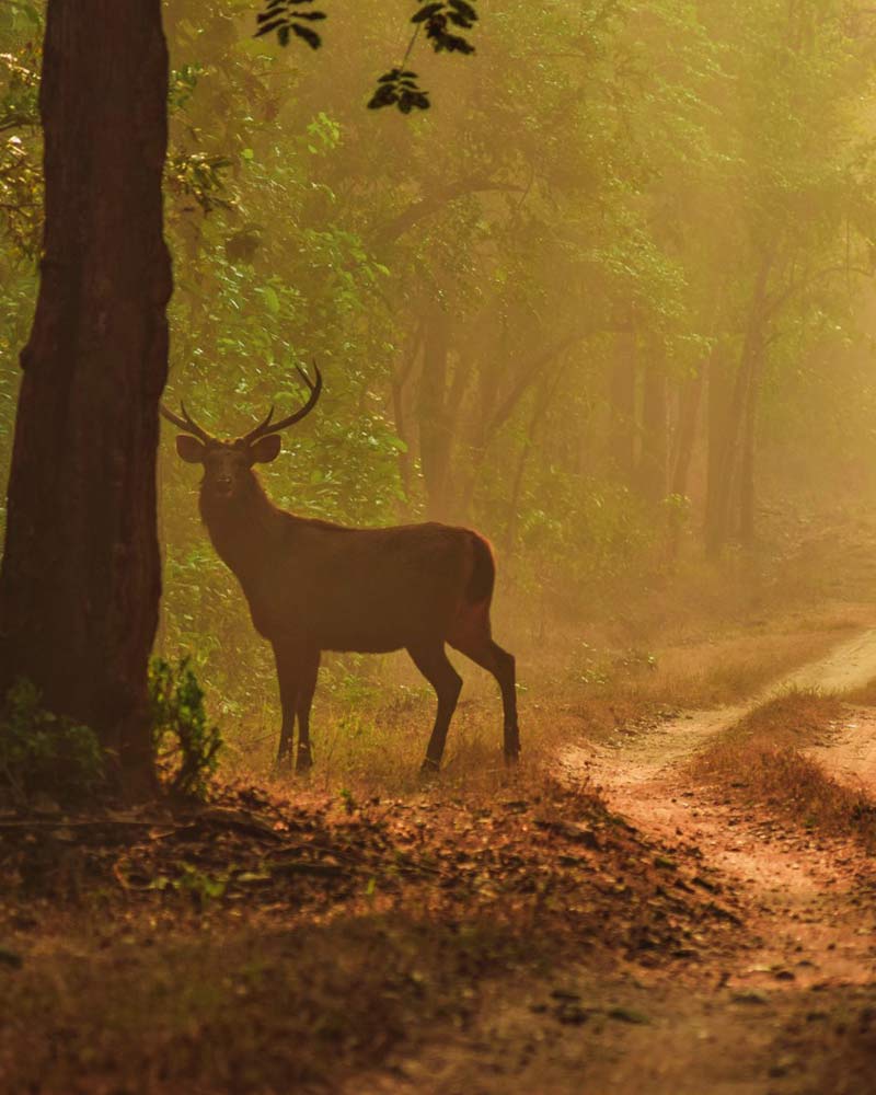
<path fill-rule="evenodd" d="M 212 437 L 206 429 L 198 426 L 195 419 L 186 411 L 184 404 L 180 404 L 182 417 L 169 411 L 164 404 L 159 405 L 161 414 L 178 426 L 184 433 L 176 438 L 176 452 L 189 464 L 204 465 L 204 480 L 201 491 L 216 499 L 232 499 L 252 481 L 253 464 L 266 464 L 277 458 L 280 451 L 280 431 L 293 426 L 306 415 L 310 414 L 322 392 L 322 373 L 314 365 L 316 373 L 315 381 L 312 381 L 303 369 L 298 369 L 301 379 L 310 389 L 307 403 L 293 414 L 279 422 L 274 422 L 274 407 L 255 429 L 234 440 L 222 441 Z"/>

